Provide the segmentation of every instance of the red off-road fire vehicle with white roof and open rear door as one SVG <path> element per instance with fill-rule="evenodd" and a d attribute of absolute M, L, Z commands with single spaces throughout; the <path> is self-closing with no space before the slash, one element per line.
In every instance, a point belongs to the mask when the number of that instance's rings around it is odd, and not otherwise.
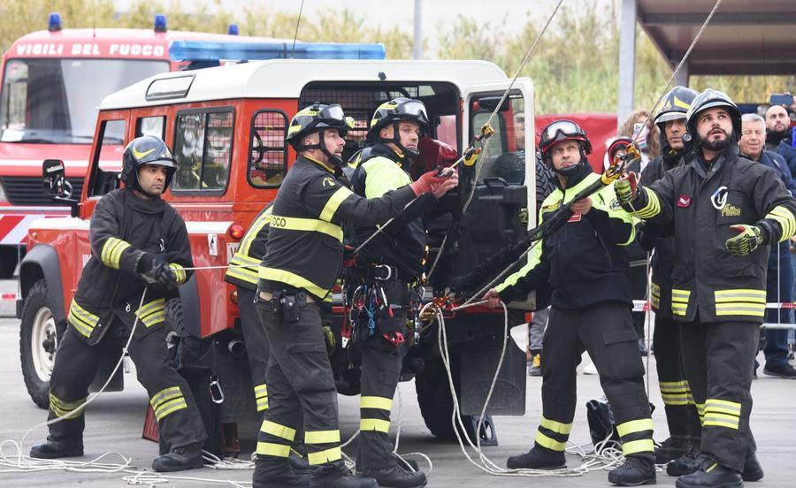
<path fill-rule="evenodd" d="M 106 155 L 119 154 L 126 141 L 146 133 L 167 141 L 180 169 L 165 199 L 187 222 L 195 265 L 223 267 L 257 212 L 275 197 L 295 159 L 285 136 L 290 118 L 301 107 L 340 103 L 356 119 L 356 128 L 348 133 L 356 149 L 379 103 L 395 96 L 417 98 L 432 120 L 432 138 L 461 154 L 508 87 L 506 74 L 484 61 L 274 59 L 159 74 L 105 97 L 80 200 L 73 202 L 75 217 L 38 220 L 28 233 L 28 253 L 19 272 L 23 300 L 18 315 L 22 369 L 31 397 L 46 406 L 57 341 L 90 254 L 88 220 L 96 202 L 118 184 L 119 162 Z M 429 223 L 428 263 L 437 255 L 440 260 L 427 284 L 428 296 L 440 296 L 474 263 L 535 224 L 533 100 L 531 80 L 518 79 L 497 111 L 488 149 L 476 164 L 460 167 L 458 209 L 463 212 Z M 523 129 L 519 116 L 528 121 Z M 437 163 L 431 154 L 418 160 L 426 169 Z M 224 269 L 197 270 L 180 287 L 180 301 L 167 308 L 167 321 L 205 340 L 211 367 L 226 393 L 222 421 L 233 422 L 253 415 L 256 403 L 247 362 L 241 358 L 245 343 L 241 345 L 236 295 L 224 274 Z M 340 318 L 340 301 L 336 305 Z M 524 323 L 524 309 L 532 306 L 532 297 L 516 304 L 509 323 Z M 465 423 L 472 425 L 506 337 L 503 316 L 490 309 L 469 309 L 450 317 L 447 324 L 454 381 Z M 453 401 L 435 327 L 429 326 L 412 348 L 403 378 L 416 379 L 417 399 L 432 433 L 453 438 Z M 338 321 L 333 327 L 338 339 L 332 355 L 334 376 L 341 393 L 356 394 L 358 360 L 341 348 L 340 328 Z M 510 346 L 489 414 L 524 415 L 524 365 L 524 351 Z M 98 381 L 107 374 L 102 371 Z M 480 433 L 482 444 L 494 441 L 494 425 L 487 425 Z"/>

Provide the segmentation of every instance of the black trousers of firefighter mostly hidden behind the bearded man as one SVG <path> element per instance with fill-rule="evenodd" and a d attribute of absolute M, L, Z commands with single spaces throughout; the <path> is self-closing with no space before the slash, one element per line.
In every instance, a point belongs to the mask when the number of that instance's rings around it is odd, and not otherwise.
<path fill-rule="evenodd" d="M 681 323 L 670 316 L 655 315 L 655 368 L 670 437 L 698 442 L 702 426 L 694 406 L 693 393 L 685 379 L 680 327 Z"/>

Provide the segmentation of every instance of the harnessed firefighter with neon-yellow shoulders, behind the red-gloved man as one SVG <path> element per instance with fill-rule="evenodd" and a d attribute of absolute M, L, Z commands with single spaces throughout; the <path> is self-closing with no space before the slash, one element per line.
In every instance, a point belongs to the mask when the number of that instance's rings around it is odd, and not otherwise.
<path fill-rule="evenodd" d="M 422 102 L 401 97 L 379 105 L 368 132 L 372 145 L 355 155 L 350 164 L 356 168 L 351 178 L 354 192 L 365 198 L 378 198 L 411 184 L 409 165 L 418 155 L 421 135 L 427 132 L 428 116 Z M 357 286 L 381 288 L 391 311 L 378 317 L 372 332 L 369 332 L 367 320 L 354 324 L 359 328 L 356 337 L 362 338 L 358 343 L 362 354 L 359 404 L 362 418 L 357 469 L 361 469 L 364 476 L 375 478 L 379 486 L 426 484 L 425 474 L 405 469 L 395 459 L 388 434 L 393 395 L 401 376 L 403 357 L 409 349 L 409 295 L 414 293 L 424 271 L 426 242 L 421 216 L 436 204 L 435 196 L 421 196 L 422 201 L 412 210 L 417 218 L 371 240 L 359 256 L 359 265 L 350 269 L 348 278 L 348 290 Z M 359 226 L 355 241 L 361 243 L 374 232 L 375 227 Z"/>

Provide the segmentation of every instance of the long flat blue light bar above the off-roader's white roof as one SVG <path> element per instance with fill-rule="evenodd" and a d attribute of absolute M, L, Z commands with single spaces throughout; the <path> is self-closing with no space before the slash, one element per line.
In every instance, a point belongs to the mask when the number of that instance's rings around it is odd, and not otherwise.
<path fill-rule="evenodd" d="M 334 42 L 205 42 L 172 41 L 172 61 L 218 61 L 219 59 L 385 59 L 384 44 Z"/>

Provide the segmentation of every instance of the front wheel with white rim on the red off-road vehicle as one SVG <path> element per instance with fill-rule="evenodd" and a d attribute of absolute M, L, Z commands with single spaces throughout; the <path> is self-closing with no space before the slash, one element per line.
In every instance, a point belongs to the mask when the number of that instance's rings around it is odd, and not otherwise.
<path fill-rule="evenodd" d="M 52 316 L 47 283 L 40 279 L 30 288 L 19 324 L 19 359 L 27 393 L 40 408 L 50 407 L 50 376 L 65 322 Z"/>

